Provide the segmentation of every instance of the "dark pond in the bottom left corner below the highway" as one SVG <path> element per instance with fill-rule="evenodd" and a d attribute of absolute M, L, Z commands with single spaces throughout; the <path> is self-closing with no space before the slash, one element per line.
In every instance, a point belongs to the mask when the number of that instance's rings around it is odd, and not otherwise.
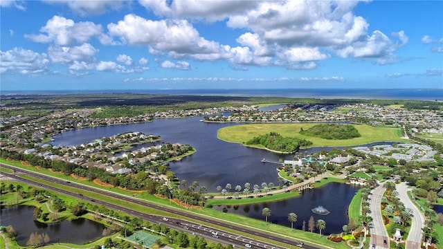
<path fill-rule="evenodd" d="M 35 207 L 19 205 L 2 209 L 0 212 L 0 225 L 12 225 L 17 232 L 17 243 L 26 246 L 30 234 L 48 234 L 49 243 L 66 242 L 84 244 L 96 241 L 103 237 L 109 230 L 105 226 L 89 219 L 75 219 L 59 223 L 41 223 L 34 219 Z"/>

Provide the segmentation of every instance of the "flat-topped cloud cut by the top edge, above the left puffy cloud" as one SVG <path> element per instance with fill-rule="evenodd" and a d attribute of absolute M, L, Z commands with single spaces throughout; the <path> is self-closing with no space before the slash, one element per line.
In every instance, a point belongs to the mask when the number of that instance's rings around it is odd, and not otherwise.
<path fill-rule="evenodd" d="M 123 3 L 127 1 L 121 0 L 45 0 L 46 3 L 66 4 L 73 12 L 85 16 L 85 15 L 100 15 L 106 12 L 108 9 L 119 10 L 124 6 Z"/>

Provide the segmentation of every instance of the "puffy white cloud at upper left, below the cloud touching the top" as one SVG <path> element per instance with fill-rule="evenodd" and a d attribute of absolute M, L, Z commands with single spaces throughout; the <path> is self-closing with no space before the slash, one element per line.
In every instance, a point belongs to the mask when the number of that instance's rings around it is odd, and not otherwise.
<path fill-rule="evenodd" d="M 91 37 L 101 38 L 102 26 L 91 21 L 75 23 L 72 19 L 55 15 L 46 22 L 46 26 L 40 28 L 40 34 L 25 37 L 34 42 L 54 42 L 60 46 L 72 46 L 75 42 L 88 42 Z"/>

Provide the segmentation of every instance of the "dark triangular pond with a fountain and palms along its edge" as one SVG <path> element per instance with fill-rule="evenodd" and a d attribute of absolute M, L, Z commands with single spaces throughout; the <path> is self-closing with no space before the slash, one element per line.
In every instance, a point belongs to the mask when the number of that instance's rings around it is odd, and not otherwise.
<path fill-rule="evenodd" d="M 309 218 L 313 216 L 315 221 L 323 219 L 326 222 L 326 229 L 322 233 L 339 233 L 342 232 L 343 225 L 347 225 L 349 221 L 347 208 L 357 191 L 359 191 L 359 187 L 356 185 L 328 183 L 323 187 L 305 190 L 300 196 L 284 201 L 251 205 L 222 205 L 214 207 L 214 209 L 264 221 L 262 210 L 263 208 L 269 208 L 271 209 L 271 216 L 268 217 L 268 221 L 289 228 L 291 223 L 288 221 L 288 214 L 294 212 L 298 217 L 298 221 L 293 223 L 293 227 L 296 229 L 301 230 L 302 223 L 305 221 L 306 230 L 308 230 Z M 318 208 L 318 206 L 323 206 L 329 211 L 329 214 L 321 215 L 312 212 L 312 209 Z M 314 230 L 314 232 L 318 232 L 318 230 Z"/>

